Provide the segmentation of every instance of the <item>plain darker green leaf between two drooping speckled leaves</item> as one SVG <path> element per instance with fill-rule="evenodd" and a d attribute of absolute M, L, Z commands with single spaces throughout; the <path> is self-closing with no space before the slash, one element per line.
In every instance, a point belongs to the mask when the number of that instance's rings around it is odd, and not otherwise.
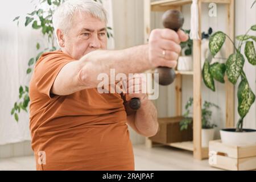
<path fill-rule="evenodd" d="M 220 63 L 214 63 L 212 65 L 210 65 L 210 75 L 212 75 L 212 77 L 221 82 L 224 83 L 224 76 L 225 76 L 225 72 L 226 72 L 226 65 L 225 64 L 220 64 Z"/>

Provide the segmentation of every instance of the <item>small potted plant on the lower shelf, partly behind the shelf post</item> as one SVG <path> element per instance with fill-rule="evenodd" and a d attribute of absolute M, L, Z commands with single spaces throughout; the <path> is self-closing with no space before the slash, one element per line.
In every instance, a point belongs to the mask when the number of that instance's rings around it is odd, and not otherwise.
<path fill-rule="evenodd" d="M 193 98 L 189 98 L 187 104 L 185 105 L 185 114 L 183 115 L 184 119 L 180 121 L 180 130 L 187 130 L 188 126 L 192 124 L 192 119 L 190 116 L 192 112 L 190 111 L 191 106 L 193 105 Z M 210 123 L 212 119 L 212 110 L 211 107 L 219 107 L 211 102 L 204 101 L 204 105 L 202 108 L 202 130 L 201 130 L 201 146 L 208 147 L 209 141 L 214 138 L 214 127 L 217 125 Z"/>

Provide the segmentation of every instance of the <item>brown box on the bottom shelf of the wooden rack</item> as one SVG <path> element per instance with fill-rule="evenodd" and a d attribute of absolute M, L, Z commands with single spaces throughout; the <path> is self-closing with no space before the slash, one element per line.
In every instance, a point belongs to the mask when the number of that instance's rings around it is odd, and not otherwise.
<path fill-rule="evenodd" d="M 157 143 L 175 143 L 193 140 L 192 125 L 187 130 L 180 131 L 180 121 L 183 117 L 158 118 L 159 130 L 149 139 Z"/>

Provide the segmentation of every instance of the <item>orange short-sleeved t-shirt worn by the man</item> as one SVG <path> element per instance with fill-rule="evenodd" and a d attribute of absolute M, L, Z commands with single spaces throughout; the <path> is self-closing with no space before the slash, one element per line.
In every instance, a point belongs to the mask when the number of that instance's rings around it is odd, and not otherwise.
<path fill-rule="evenodd" d="M 35 65 L 29 94 L 36 169 L 134 170 L 122 94 L 100 94 L 97 89 L 68 96 L 49 93 L 61 68 L 71 61 L 54 51 L 44 53 Z"/>

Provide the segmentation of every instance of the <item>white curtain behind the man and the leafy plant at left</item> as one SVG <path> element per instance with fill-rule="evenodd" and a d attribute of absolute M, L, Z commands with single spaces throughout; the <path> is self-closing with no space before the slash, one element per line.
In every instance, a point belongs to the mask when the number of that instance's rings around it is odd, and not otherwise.
<path fill-rule="evenodd" d="M 108 26 L 113 27 L 112 1 L 103 2 L 108 11 Z M 31 26 L 24 27 L 24 21 L 17 27 L 13 19 L 20 15 L 24 20 L 26 13 L 33 10 L 31 0 L 0 2 L 0 145 L 30 140 L 28 113 L 20 111 L 19 122 L 16 122 L 11 109 L 19 99 L 19 86 L 29 84 L 28 60 L 40 52 L 36 50 L 36 43 L 39 42 L 43 49 L 47 40 L 40 31 L 32 30 Z M 109 40 L 109 48 L 114 48 L 113 39 Z"/>

